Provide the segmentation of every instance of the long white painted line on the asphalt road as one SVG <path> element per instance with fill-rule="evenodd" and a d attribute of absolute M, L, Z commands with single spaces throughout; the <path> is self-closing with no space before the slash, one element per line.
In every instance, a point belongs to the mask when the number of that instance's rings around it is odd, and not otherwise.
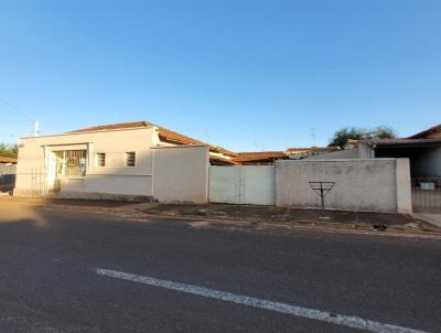
<path fill-rule="evenodd" d="M 155 278 L 131 275 L 131 273 L 127 273 L 123 271 L 97 268 L 96 272 L 98 275 L 107 276 L 107 277 L 111 277 L 111 278 L 150 284 L 150 286 L 176 290 L 176 291 L 183 291 L 183 292 L 197 294 L 197 296 L 202 296 L 202 297 L 207 297 L 207 298 L 212 298 L 212 299 L 234 302 L 234 303 L 238 303 L 238 304 L 245 304 L 245 305 L 270 310 L 270 311 L 275 311 L 275 312 L 279 312 L 279 313 L 291 314 L 294 316 L 302 316 L 302 318 L 308 318 L 308 319 L 312 319 L 312 320 L 327 322 L 331 324 L 343 325 L 343 326 L 348 326 L 348 327 L 358 329 L 358 330 L 365 330 L 368 332 L 428 333 L 424 331 L 375 322 L 375 321 L 358 318 L 358 316 L 336 314 L 336 313 L 331 313 L 331 312 L 326 312 L 326 311 L 320 311 L 320 310 L 314 310 L 314 309 L 309 309 L 309 308 L 303 308 L 303 307 L 298 307 L 298 305 L 290 305 L 290 304 L 286 304 L 286 303 L 272 302 L 272 301 L 268 301 L 268 300 L 256 299 L 256 298 L 251 298 L 251 297 L 247 297 L 247 296 L 224 292 L 224 291 L 219 291 L 219 290 L 196 287 L 196 286 L 192 286 L 192 284 L 184 284 L 184 283 L 172 282 L 172 281 L 166 281 L 166 280 L 160 280 L 160 279 L 155 279 Z"/>

